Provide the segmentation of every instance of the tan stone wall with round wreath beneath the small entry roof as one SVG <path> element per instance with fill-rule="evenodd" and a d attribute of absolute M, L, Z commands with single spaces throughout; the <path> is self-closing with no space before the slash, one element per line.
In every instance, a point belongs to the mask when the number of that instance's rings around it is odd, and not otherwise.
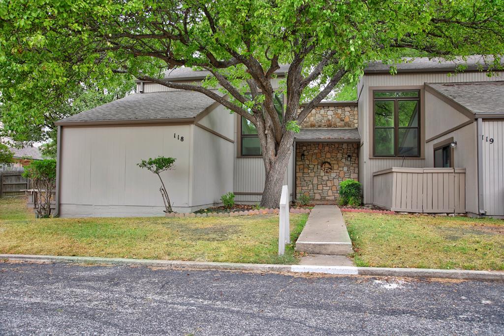
<path fill-rule="evenodd" d="M 308 195 L 313 200 L 338 200 L 339 184 L 348 179 L 358 179 L 359 144 L 346 142 L 298 142 L 296 144 L 296 198 Z M 304 160 L 301 154 L 304 153 Z M 347 161 L 347 155 L 352 156 Z M 331 164 L 325 172 L 323 163 Z M 328 167 L 327 164 L 325 166 Z"/>

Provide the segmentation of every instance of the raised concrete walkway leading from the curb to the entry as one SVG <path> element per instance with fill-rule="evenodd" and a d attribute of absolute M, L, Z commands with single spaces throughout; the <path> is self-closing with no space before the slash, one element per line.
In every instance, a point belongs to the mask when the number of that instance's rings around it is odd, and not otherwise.
<path fill-rule="evenodd" d="M 301 265 L 353 265 L 346 257 L 353 252 L 352 242 L 338 206 L 316 205 L 311 210 L 296 251 L 308 253 L 301 258 Z"/>

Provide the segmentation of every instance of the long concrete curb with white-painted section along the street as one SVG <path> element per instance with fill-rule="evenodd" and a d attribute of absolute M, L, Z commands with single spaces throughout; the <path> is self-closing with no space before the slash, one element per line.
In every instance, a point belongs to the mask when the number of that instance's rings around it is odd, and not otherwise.
<path fill-rule="evenodd" d="M 232 262 L 73 257 L 73 256 L 27 255 L 27 254 L 0 254 L 0 260 L 27 261 L 27 262 L 93 263 L 93 264 L 112 264 L 112 265 L 130 265 L 130 266 L 139 265 L 139 266 L 166 267 L 171 269 L 216 269 L 216 270 L 248 271 L 248 272 L 324 273 L 324 274 L 338 274 L 338 275 L 400 276 L 400 277 L 446 278 L 446 279 L 460 279 L 460 280 L 504 282 L 504 272 L 502 271 L 482 271 L 482 270 L 462 270 L 462 269 L 245 264 L 245 263 L 232 263 Z"/>

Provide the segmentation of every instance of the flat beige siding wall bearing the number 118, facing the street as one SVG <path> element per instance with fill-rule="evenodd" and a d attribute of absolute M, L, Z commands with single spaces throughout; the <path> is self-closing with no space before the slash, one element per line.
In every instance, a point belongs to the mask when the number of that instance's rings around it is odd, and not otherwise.
<path fill-rule="evenodd" d="M 158 177 L 137 166 L 140 160 L 158 155 L 177 159 L 163 179 L 174 209 L 186 211 L 190 208 L 191 147 L 190 125 L 63 127 L 60 215 L 162 215 Z"/>

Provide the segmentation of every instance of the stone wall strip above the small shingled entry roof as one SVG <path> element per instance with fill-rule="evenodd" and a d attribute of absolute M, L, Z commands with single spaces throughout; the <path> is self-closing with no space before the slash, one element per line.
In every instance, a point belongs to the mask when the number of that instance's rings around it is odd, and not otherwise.
<path fill-rule="evenodd" d="M 301 123 L 301 128 L 355 128 L 357 106 L 317 106 Z"/>

